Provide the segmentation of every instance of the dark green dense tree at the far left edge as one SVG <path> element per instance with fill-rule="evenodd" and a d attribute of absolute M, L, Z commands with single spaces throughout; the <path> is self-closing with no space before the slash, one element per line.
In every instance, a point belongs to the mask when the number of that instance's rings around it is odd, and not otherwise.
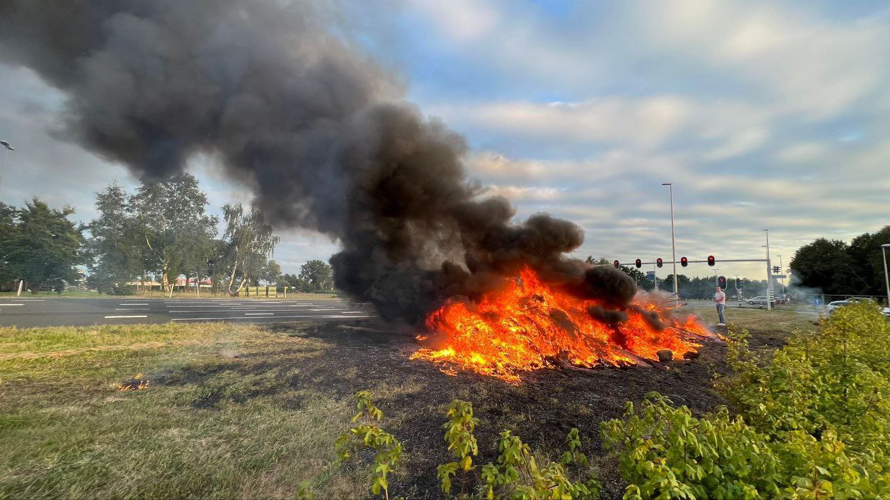
<path fill-rule="evenodd" d="M 7 210 L 4 208 L 4 213 Z M 85 263 L 81 248 L 84 238 L 82 228 L 69 221 L 71 214 L 74 209 L 70 206 L 54 210 L 33 198 L 25 208 L 15 211 L 12 229 L 4 229 L 8 233 L 0 262 L 8 266 L 13 277 L 28 281 L 33 293 L 44 285 L 61 291 L 63 281 L 78 278 L 75 266 Z"/>

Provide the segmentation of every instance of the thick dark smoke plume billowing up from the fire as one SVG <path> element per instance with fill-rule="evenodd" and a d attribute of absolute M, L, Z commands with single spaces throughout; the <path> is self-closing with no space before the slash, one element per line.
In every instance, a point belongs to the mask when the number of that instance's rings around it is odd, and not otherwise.
<path fill-rule="evenodd" d="M 565 253 L 583 232 L 546 214 L 511 219 L 466 177 L 463 138 L 312 4 L 236 0 L 4 0 L 0 60 L 69 95 L 71 141 L 146 180 L 212 154 L 279 226 L 343 250 L 336 285 L 409 322 L 530 265 L 622 308 L 633 281 Z"/>

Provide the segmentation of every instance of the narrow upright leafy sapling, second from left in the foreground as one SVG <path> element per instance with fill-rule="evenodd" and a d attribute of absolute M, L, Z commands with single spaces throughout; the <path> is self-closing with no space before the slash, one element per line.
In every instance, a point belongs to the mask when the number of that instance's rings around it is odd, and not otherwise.
<path fill-rule="evenodd" d="M 466 498 L 466 482 L 467 474 L 475 470 L 473 465 L 473 456 L 479 453 L 479 447 L 476 445 L 476 438 L 473 436 L 473 430 L 479 419 L 473 416 L 473 404 L 460 399 L 451 401 L 448 408 L 449 421 L 442 427 L 445 428 L 445 441 L 449 444 L 448 448 L 451 455 L 457 460 L 448 464 L 441 464 L 436 475 L 442 482 L 442 491 L 445 494 L 451 493 L 451 479 L 457 475 L 460 483 L 459 498 Z"/>

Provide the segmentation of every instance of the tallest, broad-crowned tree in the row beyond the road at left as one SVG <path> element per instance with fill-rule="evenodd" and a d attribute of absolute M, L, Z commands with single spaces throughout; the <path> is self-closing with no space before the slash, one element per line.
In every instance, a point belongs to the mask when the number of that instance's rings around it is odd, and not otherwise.
<path fill-rule="evenodd" d="M 189 173 L 143 184 L 130 198 L 142 245 L 144 270 L 157 273 L 166 289 L 182 272 L 206 269 L 216 218 L 205 213 L 207 198 Z"/>

